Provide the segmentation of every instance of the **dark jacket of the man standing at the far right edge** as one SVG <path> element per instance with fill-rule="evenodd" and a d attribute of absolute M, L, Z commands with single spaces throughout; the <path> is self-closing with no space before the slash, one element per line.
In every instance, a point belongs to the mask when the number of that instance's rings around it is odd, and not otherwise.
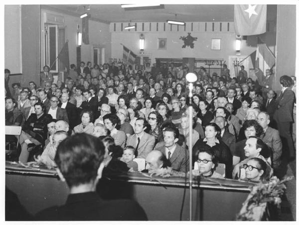
<path fill-rule="evenodd" d="M 282 95 L 277 98 L 278 110 L 274 112 L 274 119 L 277 122 L 294 122 L 293 107 L 295 103 L 295 93 L 291 88 L 287 88 Z"/>

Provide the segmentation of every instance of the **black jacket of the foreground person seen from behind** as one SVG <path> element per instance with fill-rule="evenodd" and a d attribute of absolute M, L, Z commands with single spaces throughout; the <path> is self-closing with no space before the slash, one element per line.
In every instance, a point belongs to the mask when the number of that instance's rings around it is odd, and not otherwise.
<path fill-rule="evenodd" d="M 37 221 L 146 221 L 146 213 L 132 200 L 103 200 L 96 192 L 71 194 L 63 206 L 36 214 Z"/>

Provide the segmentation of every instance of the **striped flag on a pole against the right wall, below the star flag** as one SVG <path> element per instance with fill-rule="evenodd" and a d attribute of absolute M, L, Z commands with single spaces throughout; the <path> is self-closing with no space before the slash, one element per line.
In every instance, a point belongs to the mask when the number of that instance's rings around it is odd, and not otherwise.
<path fill-rule="evenodd" d="M 275 55 L 265 43 L 258 44 L 255 63 L 255 74 L 261 84 L 266 76 L 266 70 L 275 65 Z"/>

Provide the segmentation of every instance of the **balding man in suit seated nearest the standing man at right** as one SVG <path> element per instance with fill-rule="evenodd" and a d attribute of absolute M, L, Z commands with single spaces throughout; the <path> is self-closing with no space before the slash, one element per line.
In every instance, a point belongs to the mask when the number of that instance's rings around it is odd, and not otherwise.
<path fill-rule="evenodd" d="M 281 164 L 282 156 L 282 140 L 279 136 L 279 132 L 269 126 L 270 115 L 267 112 L 260 112 L 257 117 L 257 122 L 263 127 L 264 132 L 260 138 L 265 144 L 267 144 L 272 150 L 272 164 L 274 169 L 278 169 Z"/>

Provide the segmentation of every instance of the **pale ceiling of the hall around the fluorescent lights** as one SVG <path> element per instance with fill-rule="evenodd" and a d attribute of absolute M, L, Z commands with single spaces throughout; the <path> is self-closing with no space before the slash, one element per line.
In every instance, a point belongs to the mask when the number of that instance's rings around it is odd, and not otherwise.
<path fill-rule="evenodd" d="M 164 4 L 158 9 L 128 10 L 120 4 L 91 4 L 91 5 L 41 5 L 44 9 L 55 9 L 58 12 L 80 16 L 90 10 L 91 19 L 110 22 L 163 22 L 167 19 L 177 19 L 185 22 L 234 21 L 234 5 L 204 5 L 204 4 Z M 176 16 L 175 16 L 176 14 Z"/>

